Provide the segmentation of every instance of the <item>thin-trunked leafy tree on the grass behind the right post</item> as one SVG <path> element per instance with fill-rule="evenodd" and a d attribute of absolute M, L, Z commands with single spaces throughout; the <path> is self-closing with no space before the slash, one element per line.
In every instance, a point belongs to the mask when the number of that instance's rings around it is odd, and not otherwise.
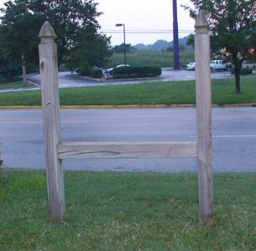
<path fill-rule="evenodd" d="M 210 24 L 212 50 L 234 65 L 236 93 L 241 93 L 240 70 L 252 49 L 256 49 L 255 0 L 191 0 L 195 8 L 184 6 L 192 18 L 202 9 Z M 255 52 L 255 50 L 254 50 Z"/>

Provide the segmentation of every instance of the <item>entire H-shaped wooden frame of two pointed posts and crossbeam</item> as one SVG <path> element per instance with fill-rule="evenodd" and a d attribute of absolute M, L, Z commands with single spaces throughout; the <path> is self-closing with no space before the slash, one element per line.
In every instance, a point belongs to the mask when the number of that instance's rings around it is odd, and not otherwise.
<path fill-rule="evenodd" d="M 170 158 L 196 157 L 200 223 L 213 226 L 212 90 L 210 35 L 205 14 L 196 17 L 196 135 L 197 142 L 61 142 L 58 56 L 55 32 L 44 22 L 39 38 L 42 107 L 44 114 L 45 165 L 48 204 L 52 222 L 65 215 L 65 189 L 61 159 L 67 158 Z"/>

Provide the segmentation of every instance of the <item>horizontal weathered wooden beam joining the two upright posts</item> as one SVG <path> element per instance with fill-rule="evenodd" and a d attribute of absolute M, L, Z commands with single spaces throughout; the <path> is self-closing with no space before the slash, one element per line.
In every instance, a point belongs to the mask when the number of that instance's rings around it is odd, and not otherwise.
<path fill-rule="evenodd" d="M 59 159 L 196 157 L 196 141 L 62 142 Z"/>

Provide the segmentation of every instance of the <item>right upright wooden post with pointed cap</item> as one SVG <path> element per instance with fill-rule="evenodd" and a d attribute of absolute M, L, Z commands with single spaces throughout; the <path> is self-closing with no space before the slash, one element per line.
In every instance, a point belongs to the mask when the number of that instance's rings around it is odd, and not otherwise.
<path fill-rule="evenodd" d="M 202 225 L 213 226 L 210 36 L 202 11 L 196 17 L 195 28 L 199 219 Z"/>

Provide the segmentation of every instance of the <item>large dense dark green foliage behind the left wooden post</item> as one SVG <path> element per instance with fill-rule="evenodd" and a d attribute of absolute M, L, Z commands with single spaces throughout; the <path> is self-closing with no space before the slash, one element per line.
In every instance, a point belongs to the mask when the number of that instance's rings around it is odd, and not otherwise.
<path fill-rule="evenodd" d="M 15 0 L 4 3 L 0 18 L 0 74 L 12 78 L 26 60 L 29 71 L 39 65 L 39 30 L 45 20 L 55 30 L 58 62 L 69 69 L 103 67 L 111 56 L 110 38 L 98 33 L 93 0 Z"/>

